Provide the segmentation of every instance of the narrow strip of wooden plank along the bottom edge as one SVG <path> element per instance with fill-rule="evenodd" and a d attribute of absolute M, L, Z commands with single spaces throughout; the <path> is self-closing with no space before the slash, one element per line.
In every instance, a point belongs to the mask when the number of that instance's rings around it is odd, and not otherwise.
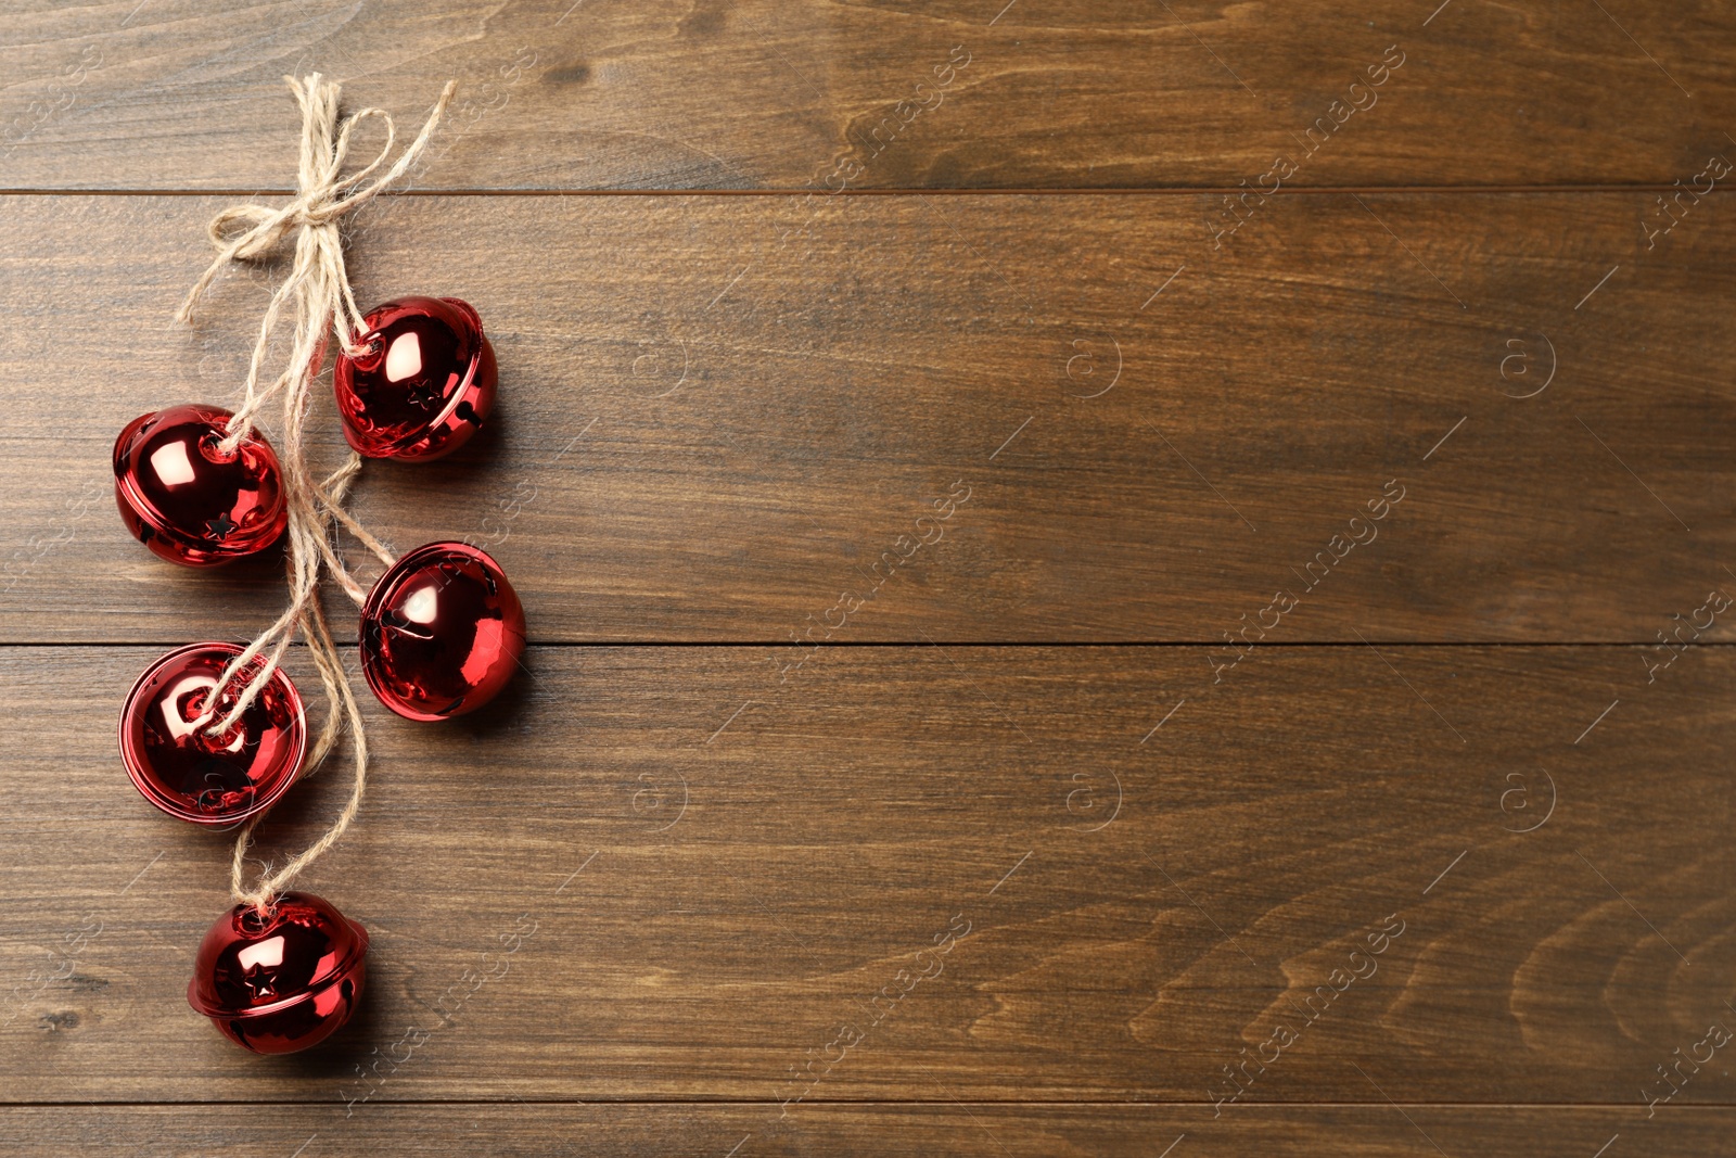
<path fill-rule="evenodd" d="M 1406 1122 L 1410 1118 L 1410 1122 Z M 1587 1158 L 1611 1137 L 1665 1158 L 1720 1153 L 1736 1116 L 1689 1109 L 1635 1125 L 1632 1113 L 1564 1106 L 1250 1106 L 1234 1120 L 1158 1106 L 812 1106 L 778 1120 L 776 1104 L 375 1106 L 352 1118 L 318 1106 L 80 1106 L 0 1109 L 17 1158 L 78 1153 L 132 1158 L 175 1139 L 200 1155 L 1352 1155 L 1434 1153 Z M 1179 1139 L 1179 1144 L 1177 1144 Z M 731 1149 L 734 1148 L 734 1149 Z M 1186 1149 L 1184 1149 L 1186 1148 Z M 1616 1153 L 1611 1148 L 1609 1153 Z"/>

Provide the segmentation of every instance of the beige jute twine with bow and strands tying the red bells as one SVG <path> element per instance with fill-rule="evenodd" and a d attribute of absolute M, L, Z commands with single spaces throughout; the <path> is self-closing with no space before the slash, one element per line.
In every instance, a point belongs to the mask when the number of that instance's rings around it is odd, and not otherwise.
<path fill-rule="evenodd" d="M 267 205 L 233 205 L 217 214 L 210 222 L 210 236 L 217 245 L 217 257 L 200 276 L 187 293 L 186 302 L 175 313 L 175 319 L 189 323 L 193 306 L 212 285 L 222 269 L 233 260 L 260 260 L 271 257 L 278 247 L 295 234 L 295 262 L 290 266 L 283 285 L 271 295 L 266 318 L 259 326 L 259 340 L 253 344 L 253 359 L 247 372 L 247 398 L 229 420 L 227 438 L 219 443 L 219 450 L 233 451 L 253 429 L 253 417 L 271 399 L 283 394 L 283 441 L 279 465 L 283 469 L 283 491 L 288 503 L 288 552 L 286 569 L 290 576 L 290 606 L 260 635 L 238 655 L 224 670 L 217 688 L 212 689 L 205 714 L 196 722 L 207 733 L 227 733 L 248 705 L 264 691 L 278 670 L 283 653 L 300 628 L 312 655 L 314 667 L 326 693 L 326 719 L 319 736 L 307 755 L 307 771 L 312 774 L 319 762 L 332 752 L 339 734 L 349 724 L 351 745 L 356 757 L 356 786 L 349 802 L 326 833 L 290 859 L 283 868 L 269 872 L 252 889 L 245 887 L 245 858 L 253 828 L 264 816 L 255 816 L 241 830 L 234 845 L 234 861 L 229 870 L 229 887 L 243 905 L 252 905 L 259 911 L 271 906 L 273 898 L 304 870 L 314 858 L 337 844 L 344 830 L 356 818 L 361 807 L 361 793 L 368 774 L 368 741 L 363 734 L 361 710 L 351 694 L 349 679 L 344 674 L 344 661 L 332 632 L 326 627 L 325 613 L 319 608 L 319 568 L 330 568 L 332 578 L 358 604 L 366 594 L 351 578 L 349 569 L 339 557 L 333 543 L 333 523 L 342 524 L 365 547 L 378 556 L 387 566 L 394 563 L 392 552 L 373 538 L 356 519 L 344 510 L 344 493 L 361 469 L 361 455 L 351 453 L 349 460 L 330 474 L 325 481 L 314 481 L 307 465 L 307 446 L 304 425 L 311 405 L 312 378 L 318 375 L 318 363 L 325 351 L 326 335 L 337 339 L 339 349 L 356 356 L 366 352 L 366 345 L 358 345 L 368 326 L 356 307 L 356 297 L 349 288 L 349 274 L 344 269 L 344 243 L 339 234 L 339 220 L 344 214 L 372 200 L 385 186 L 398 181 L 415 165 L 422 149 L 432 137 L 451 101 L 455 82 L 446 82 L 439 101 L 429 113 L 422 132 L 410 142 L 398 160 L 372 182 L 368 177 L 378 170 L 392 153 L 396 130 L 392 118 L 382 109 L 361 109 L 339 125 L 339 90 L 335 82 L 325 80 L 319 73 L 306 78 L 285 76 L 295 102 L 302 109 L 302 148 L 297 196 L 283 207 Z M 385 148 L 368 163 L 366 168 L 340 177 L 344 158 L 349 155 L 349 142 L 358 125 L 378 116 L 385 123 Z M 366 182 L 366 184 L 365 184 Z M 278 328 L 283 309 L 293 302 L 295 340 L 290 347 L 288 366 L 260 389 L 260 366 L 266 361 L 271 335 Z M 219 691 L 245 667 L 253 663 L 262 651 L 271 648 L 264 665 L 255 670 L 240 696 L 222 719 L 217 717 Z"/>

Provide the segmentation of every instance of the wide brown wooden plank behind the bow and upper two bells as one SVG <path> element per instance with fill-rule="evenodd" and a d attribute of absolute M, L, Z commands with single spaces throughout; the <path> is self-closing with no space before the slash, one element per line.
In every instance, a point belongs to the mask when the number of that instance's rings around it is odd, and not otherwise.
<path fill-rule="evenodd" d="M 477 304 L 502 403 L 358 512 L 493 550 L 549 642 L 1654 644 L 1736 587 L 1736 231 L 1647 250 L 1647 201 L 1304 194 L 1213 250 L 1205 196 L 394 198 L 361 299 Z M 224 203 L 0 205 L 0 637 L 281 606 L 108 509 L 127 420 L 240 391 L 269 273 L 170 326 Z"/>

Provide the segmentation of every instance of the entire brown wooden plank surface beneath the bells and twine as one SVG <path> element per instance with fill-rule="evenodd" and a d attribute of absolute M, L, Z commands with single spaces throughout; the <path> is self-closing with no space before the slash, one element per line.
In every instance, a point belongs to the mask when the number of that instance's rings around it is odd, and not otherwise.
<path fill-rule="evenodd" d="M 1736 1148 L 1736 7 L 0 9 L 0 1151 Z M 531 648 L 366 698 L 302 884 L 370 991 L 269 1059 L 113 727 L 281 569 L 142 552 L 108 453 L 234 405 L 283 264 L 170 316 L 307 71 L 458 80 L 351 276 L 500 405 L 356 512 Z"/>

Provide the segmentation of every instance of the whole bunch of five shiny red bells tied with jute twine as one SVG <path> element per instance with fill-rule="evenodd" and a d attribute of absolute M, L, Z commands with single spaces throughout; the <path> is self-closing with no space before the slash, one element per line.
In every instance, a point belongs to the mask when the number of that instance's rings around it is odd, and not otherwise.
<path fill-rule="evenodd" d="M 153 806 L 198 825 L 240 826 L 229 882 L 238 903 L 200 943 L 187 1003 L 255 1054 L 325 1042 L 356 1014 L 366 988 L 368 931 L 328 901 L 288 891 L 344 837 L 368 780 L 365 720 L 319 613 L 325 569 L 345 592 L 363 594 L 332 543 L 335 526 L 391 564 L 366 599 L 361 655 L 368 684 L 392 710 L 443 719 L 481 707 L 524 649 L 524 611 L 493 559 L 462 543 L 431 543 L 392 563 L 344 510 L 358 455 L 437 458 L 472 438 L 493 406 L 498 372 L 477 313 L 458 299 L 404 297 L 358 319 L 339 227 L 345 212 L 411 172 L 457 83 L 446 82 L 422 130 L 392 161 L 398 137 L 387 113 L 368 108 L 340 118 L 335 82 L 319 73 L 288 80 L 302 111 L 299 194 L 285 207 L 240 205 L 214 217 L 219 253 L 175 313 L 191 323 L 231 262 L 257 262 L 293 243 L 295 262 L 253 345 L 241 418 L 217 406 L 172 406 L 130 422 L 113 450 L 122 517 L 158 556 L 214 566 L 279 538 L 286 547 L 283 615 L 247 649 L 205 642 L 161 656 L 134 684 L 120 720 L 122 760 Z M 385 148 L 344 175 L 354 128 L 372 118 L 385 122 Z M 271 385 L 262 391 L 262 366 L 283 352 L 276 328 L 288 318 L 295 319 L 288 365 L 266 375 Z M 356 455 L 319 483 L 306 432 L 325 342 L 333 337 L 337 410 Z M 250 422 L 273 394 L 283 403 L 281 462 Z M 330 701 L 318 745 L 290 677 L 264 660 L 286 655 L 297 634 Z M 255 658 L 238 665 L 241 655 Z M 311 752 L 323 755 L 340 731 L 352 748 L 349 804 L 318 840 L 274 870 L 267 863 L 248 887 L 255 825 L 297 781 Z"/>

